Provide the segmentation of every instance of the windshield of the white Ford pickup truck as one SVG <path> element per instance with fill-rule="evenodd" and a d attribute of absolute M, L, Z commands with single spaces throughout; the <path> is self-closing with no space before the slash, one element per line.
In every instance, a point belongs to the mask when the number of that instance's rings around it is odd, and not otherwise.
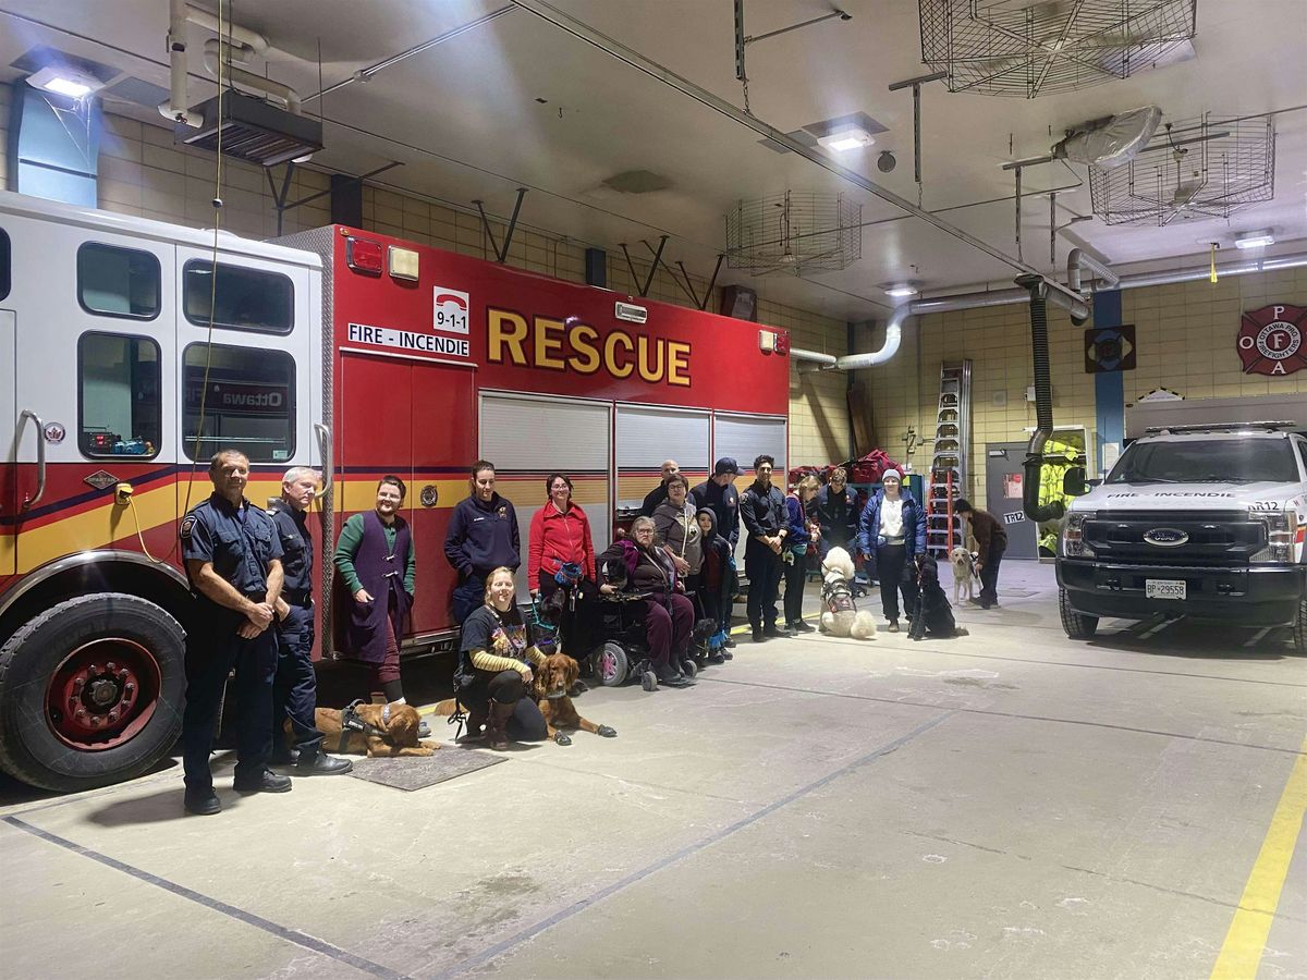
<path fill-rule="evenodd" d="M 1185 439 L 1133 443 L 1112 468 L 1108 483 L 1276 483 L 1298 482 L 1298 461 L 1287 439 Z"/>

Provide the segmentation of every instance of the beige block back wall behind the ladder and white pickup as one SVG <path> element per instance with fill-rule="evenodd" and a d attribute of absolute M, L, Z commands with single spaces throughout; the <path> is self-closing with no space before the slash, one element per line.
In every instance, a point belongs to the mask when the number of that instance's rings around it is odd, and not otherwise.
<path fill-rule="evenodd" d="M 1230 276 L 1216 285 L 1201 281 L 1123 290 L 1121 320 L 1134 324 L 1138 344 L 1138 366 L 1124 376 L 1125 402 L 1161 387 L 1187 399 L 1307 392 L 1307 371 L 1274 379 L 1242 372 L 1235 350 L 1239 318 L 1272 302 L 1307 304 L 1307 269 Z M 1094 376 L 1085 374 L 1084 357 L 1089 325 L 1074 327 L 1064 312 L 1050 310 L 1053 421 L 1059 426 L 1085 426 L 1093 446 Z M 1034 404 L 1026 401 L 1026 387 L 1034 384 L 1027 307 L 910 320 L 899 355 L 867 375 L 873 388 L 876 431 L 894 456 L 902 448 L 897 439 L 906 426 L 915 426 L 924 438 L 932 434 L 940 366 L 962 358 L 972 362 L 974 452 L 967 493 L 984 500 L 985 443 L 1023 440 L 1029 438 L 1027 427 L 1035 425 Z M 923 446 L 911 461 L 924 473 L 931 461 L 929 446 Z"/>

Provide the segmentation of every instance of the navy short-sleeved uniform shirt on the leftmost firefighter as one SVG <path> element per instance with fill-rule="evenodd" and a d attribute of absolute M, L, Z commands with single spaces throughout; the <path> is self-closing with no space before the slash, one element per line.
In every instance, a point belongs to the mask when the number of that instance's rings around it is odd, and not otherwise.
<path fill-rule="evenodd" d="M 186 515 L 180 536 L 182 558 L 209 562 L 237 592 L 260 601 L 268 592 L 268 564 L 284 554 L 272 517 L 243 498 L 233 506 L 218 493 Z M 193 581 L 191 591 L 213 604 Z"/>

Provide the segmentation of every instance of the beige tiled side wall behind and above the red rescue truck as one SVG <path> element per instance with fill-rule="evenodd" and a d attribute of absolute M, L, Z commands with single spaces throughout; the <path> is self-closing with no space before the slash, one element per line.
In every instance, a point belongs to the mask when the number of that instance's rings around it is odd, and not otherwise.
<path fill-rule="evenodd" d="M 0 85 L 0 140 L 9 118 L 8 85 Z M 3 145 L 3 144 L 0 144 Z M 0 188 L 8 187 L 0 154 Z M 173 145 L 173 133 L 162 127 L 142 124 L 116 115 L 105 115 L 101 145 L 99 197 L 106 210 L 136 214 L 178 225 L 212 226 L 216 157 Z M 281 169 L 274 176 L 281 179 Z M 222 226 L 252 238 L 277 234 L 273 195 L 264 171 L 246 163 L 223 162 Z M 289 200 L 307 197 L 328 188 L 328 175 L 297 169 Z M 523 205 L 529 213 L 531 197 Z M 327 196 L 312 204 L 288 210 L 284 233 L 302 231 L 329 223 Z M 481 218 L 474 210 L 459 210 L 444 204 L 401 195 L 382 187 L 363 187 L 363 226 L 396 238 L 437 248 L 493 257 Z M 503 242 L 505 226 L 495 223 L 495 239 Z M 584 282 L 586 244 L 563 235 L 528 230 L 519 225 L 508 251 L 508 264 L 572 282 Z M 643 280 L 648 263 L 633 251 L 633 264 Z M 613 290 L 635 293 L 637 287 L 621 252 L 608 253 L 608 285 Z M 706 278 L 694 278 L 694 291 L 702 297 Z M 650 299 L 690 306 L 690 299 L 673 277 L 659 268 L 648 291 Z M 718 306 L 716 295 L 708 310 Z M 758 319 L 795 333 L 795 345 L 846 353 L 844 324 L 779 303 L 759 299 Z M 729 383 L 729 365 L 720 365 L 723 382 Z M 844 380 L 836 375 L 805 375 L 791 371 L 791 455 L 796 460 L 843 459 L 848 447 L 848 413 L 844 408 Z"/>

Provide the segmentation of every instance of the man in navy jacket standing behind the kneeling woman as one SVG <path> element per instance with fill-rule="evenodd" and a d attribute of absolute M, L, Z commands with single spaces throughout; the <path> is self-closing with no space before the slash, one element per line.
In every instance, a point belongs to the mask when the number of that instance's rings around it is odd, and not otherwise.
<path fill-rule="evenodd" d="M 461 623 L 485 605 L 486 576 L 495 568 L 518 570 L 521 541 L 518 514 L 494 489 L 494 464 L 472 464 L 472 493 L 450 517 L 444 557 L 459 572 L 454 589 L 454 622 Z"/>

